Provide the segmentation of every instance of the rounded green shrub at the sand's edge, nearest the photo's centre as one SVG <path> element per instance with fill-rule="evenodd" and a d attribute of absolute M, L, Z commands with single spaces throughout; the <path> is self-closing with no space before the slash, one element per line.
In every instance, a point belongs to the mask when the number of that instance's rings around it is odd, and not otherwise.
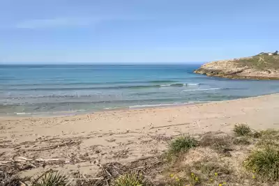
<path fill-rule="evenodd" d="M 190 148 L 196 147 L 197 144 L 197 139 L 191 137 L 190 135 L 178 137 L 169 144 L 169 153 L 177 154 L 187 152 Z"/>

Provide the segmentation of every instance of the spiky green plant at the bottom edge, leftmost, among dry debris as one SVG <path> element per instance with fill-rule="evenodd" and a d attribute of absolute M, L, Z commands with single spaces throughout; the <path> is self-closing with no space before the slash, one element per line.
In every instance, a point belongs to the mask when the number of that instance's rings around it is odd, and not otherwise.
<path fill-rule="evenodd" d="M 43 173 L 33 181 L 32 186 L 68 186 L 70 181 L 68 176 L 56 171 Z"/>

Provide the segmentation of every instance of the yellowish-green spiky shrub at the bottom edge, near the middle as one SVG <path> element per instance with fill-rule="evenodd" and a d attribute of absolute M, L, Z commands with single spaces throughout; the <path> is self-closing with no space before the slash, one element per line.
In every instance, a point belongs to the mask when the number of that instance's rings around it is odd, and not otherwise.
<path fill-rule="evenodd" d="M 140 173 L 126 173 L 114 180 L 114 186 L 145 186 L 146 181 Z"/>

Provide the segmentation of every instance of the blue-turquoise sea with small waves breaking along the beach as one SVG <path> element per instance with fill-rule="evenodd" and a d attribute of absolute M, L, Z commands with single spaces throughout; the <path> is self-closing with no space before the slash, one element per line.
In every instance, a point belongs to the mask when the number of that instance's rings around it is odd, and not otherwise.
<path fill-rule="evenodd" d="M 200 65 L 0 65 L 0 116 L 170 107 L 279 92 L 276 80 L 193 73 Z"/>

